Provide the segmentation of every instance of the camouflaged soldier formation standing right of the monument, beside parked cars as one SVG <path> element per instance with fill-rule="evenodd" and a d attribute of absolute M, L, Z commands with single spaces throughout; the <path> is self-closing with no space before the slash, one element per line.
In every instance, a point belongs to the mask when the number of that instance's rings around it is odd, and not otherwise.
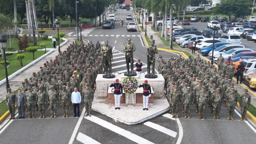
<path fill-rule="evenodd" d="M 185 118 L 190 118 L 191 105 L 196 107 L 199 119 L 205 119 L 206 107 L 213 113 L 213 119 L 219 119 L 219 112 L 222 103 L 227 107 L 228 120 L 233 119 L 233 112 L 237 104 L 238 93 L 231 83 L 235 74 L 235 67 L 227 64 L 221 56 L 217 59 L 218 71 L 210 61 L 201 60 L 200 55 L 192 60 L 171 58 L 165 61 L 162 55 L 156 59 L 159 74 L 165 79 L 165 94 L 170 104 L 170 113 L 177 118 L 178 105 L 181 103 L 182 113 Z M 240 96 L 241 120 L 246 120 L 245 115 L 250 105 L 251 96 L 244 90 Z"/>

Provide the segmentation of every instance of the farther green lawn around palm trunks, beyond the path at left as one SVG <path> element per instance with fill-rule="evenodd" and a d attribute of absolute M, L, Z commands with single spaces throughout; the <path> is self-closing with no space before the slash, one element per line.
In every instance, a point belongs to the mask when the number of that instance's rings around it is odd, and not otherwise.
<path fill-rule="evenodd" d="M 13 38 L 11 38 L 11 43 L 12 43 L 12 40 L 13 40 Z M 9 42 L 9 39 L 8 39 L 8 42 Z M 61 44 L 62 42 L 64 42 L 64 40 L 61 41 L 61 39 L 60 39 L 59 40 L 59 44 Z M 39 46 L 41 43 L 45 43 L 46 44 L 46 48 L 53 48 L 53 44 L 52 44 L 52 39 L 51 38 L 48 38 L 47 40 L 38 40 L 37 41 L 37 46 L 39 47 L 39 49 L 42 49 Z M 13 40 L 11 48 L 9 48 L 9 44 L 8 43 L 6 45 L 7 45 L 6 52 L 14 52 L 14 51 L 18 51 L 19 50 L 17 39 Z M 30 42 L 28 45 L 29 46 L 33 46 L 33 42 Z"/>

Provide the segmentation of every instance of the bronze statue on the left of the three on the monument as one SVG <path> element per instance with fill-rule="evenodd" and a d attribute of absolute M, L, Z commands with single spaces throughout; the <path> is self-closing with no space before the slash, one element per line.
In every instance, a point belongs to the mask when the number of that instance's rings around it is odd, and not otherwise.
<path fill-rule="evenodd" d="M 107 70 L 109 69 L 109 75 L 112 76 L 112 66 L 111 60 L 113 60 L 112 47 L 108 45 L 108 41 L 105 40 L 105 46 L 101 48 L 101 54 L 103 56 L 103 66 L 105 75 L 107 75 Z"/>

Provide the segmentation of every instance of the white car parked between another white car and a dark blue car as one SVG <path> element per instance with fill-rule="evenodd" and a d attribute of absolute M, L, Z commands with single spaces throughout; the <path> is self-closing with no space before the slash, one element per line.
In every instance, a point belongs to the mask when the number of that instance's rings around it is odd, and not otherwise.
<path fill-rule="evenodd" d="M 237 53 L 240 53 L 240 52 L 252 52 L 253 50 L 251 50 L 250 48 L 243 48 L 243 47 L 240 47 L 240 48 L 233 48 L 231 50 L 228 50 L 226 52 L 222 52 L 222 57 L 224 58 L 227 58 L 227 57 L 231 57 Z M 216 53 L 213 55 L 213 60 L 214 61 L 217 61 L 217 58 L 219 57 L 220 53 Z"/>

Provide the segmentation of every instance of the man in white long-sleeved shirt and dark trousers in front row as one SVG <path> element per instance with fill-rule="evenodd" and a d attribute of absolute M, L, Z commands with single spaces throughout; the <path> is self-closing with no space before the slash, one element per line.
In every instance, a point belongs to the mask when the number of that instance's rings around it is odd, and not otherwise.
<path fill-rule="evenodd" d="M 74 88 L 74 92 L 72 92 L 71 95 L 71 102 L 74 105 L 74 117 L 80 117 L 80 109 L 79 109 L 79 104 L 81 103 L 81 94 L 80 92 L 77 91 L 77 87 Z M 77 113 L 76 113 L 76 108 L 77 108 Z"/>

